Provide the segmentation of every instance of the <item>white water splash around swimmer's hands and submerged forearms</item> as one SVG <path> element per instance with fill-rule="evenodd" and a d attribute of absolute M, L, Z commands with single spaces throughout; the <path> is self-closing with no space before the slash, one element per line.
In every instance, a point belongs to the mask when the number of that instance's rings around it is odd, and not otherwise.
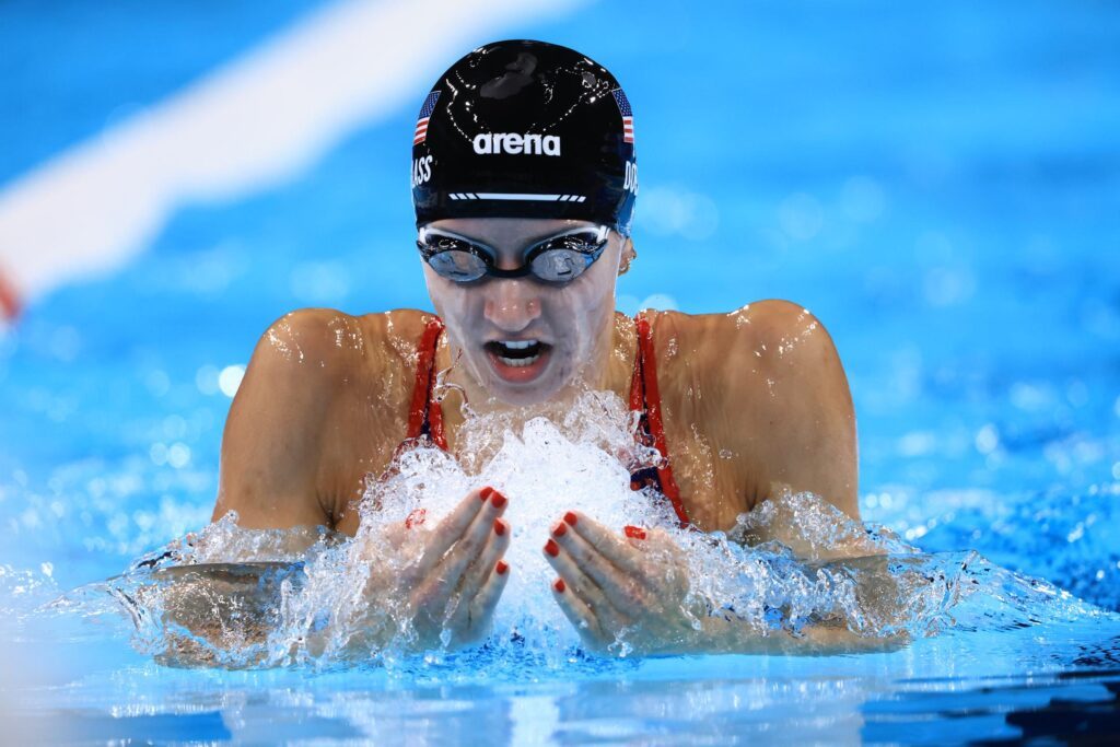
<path fill-rule="evenodd" d="M 716 620 L 734 629 L 740 650 L 899 645 L 949 629 L 1104 614 L 974 552 L 920 553 L 809 493 L 778 495 L 727 533 L 680 529 L 663 496 L 629 487 L 631 468 L 656 455 L 635 446 L 620 400 L 588 393 L 545 414 L 522 427 L 508 414 L 474 417 L 460 454 L 401 455 L 370 482 L 354 538 L 325 529 L 242 530 L 230 515 L 99 589 L 128 610 L 137 646 L 166 663 L 409 669 L 458 661 L 417 650 L 407 610 L 392 601 L 400 598 L 393 579 L 468 491 L 491 485 L 510 497 L 511 578 L 491 636 L 473 654 L 484 661 L 556 667 L 582 659 L 577 633 L 548 591 L 554 571 L 541 552 L 570 510 L 616 530 L 668 532 L 689 559 L 683 611 L 697 628 Z M 424 523 L 405 531 L 419 508 Z M 627 635 L 612 653 L 634 651 Z"/>

